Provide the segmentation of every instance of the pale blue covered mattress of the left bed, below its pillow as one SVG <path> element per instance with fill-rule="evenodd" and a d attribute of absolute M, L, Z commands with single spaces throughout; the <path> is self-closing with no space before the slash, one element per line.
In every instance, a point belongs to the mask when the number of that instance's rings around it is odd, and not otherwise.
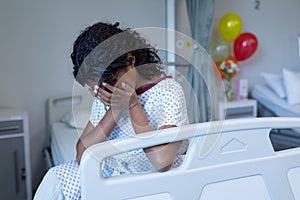
<path fill-rule="evenodd" d="M 51 154 L 54 165 L 76 159 L 76 142 L 80 132 L 65 123 L 54 123 L 51 133 Z"/>

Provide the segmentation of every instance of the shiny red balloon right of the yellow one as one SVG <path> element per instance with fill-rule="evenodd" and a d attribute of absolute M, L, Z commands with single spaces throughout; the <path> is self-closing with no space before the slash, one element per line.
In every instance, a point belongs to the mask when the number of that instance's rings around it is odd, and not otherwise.
<path fill-rule="evenodd" d="M 257 49 L 257 38 L 252 33 L 242 33 L 234 41 L 233 51 L 238 61 L 243 61 L 253 55 Z"/>

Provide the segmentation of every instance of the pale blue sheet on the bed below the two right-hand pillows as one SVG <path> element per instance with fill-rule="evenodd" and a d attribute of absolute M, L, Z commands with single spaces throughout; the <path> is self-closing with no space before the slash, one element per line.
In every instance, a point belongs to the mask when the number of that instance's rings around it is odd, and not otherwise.
<path fill-rule="evenodd" d="M 279 117 L 300 117 L 300 104 L 292 105 L 279 98 L 267 85 L 255 85 L 252 96 Z"/>

